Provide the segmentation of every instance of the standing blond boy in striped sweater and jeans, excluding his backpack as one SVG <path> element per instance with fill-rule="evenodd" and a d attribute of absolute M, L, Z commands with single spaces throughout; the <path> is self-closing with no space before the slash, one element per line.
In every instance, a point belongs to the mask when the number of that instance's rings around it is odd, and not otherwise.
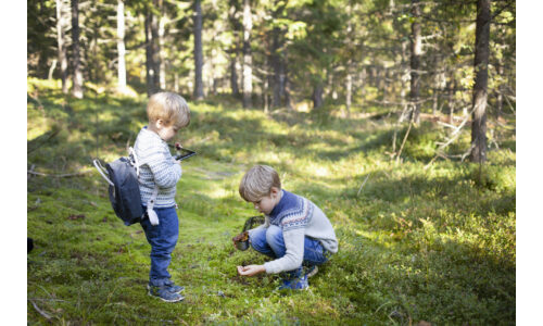
<path fill-rule="evenodd" d="M 149 294 L 166 302 L 185 299 L 184 287 L 171 280 L 167 267 L 179 235 L 175 193 L 181 166 L 169 152 L 171 141 L 180 128 L 190 123 L 187 102 L 173 92 L 159 92 L 147 105 L 149 126 L 144 126 L 134 146 L 139 168 L 139 190 L 146 217 L 140 224 L 151 244 Z"/>

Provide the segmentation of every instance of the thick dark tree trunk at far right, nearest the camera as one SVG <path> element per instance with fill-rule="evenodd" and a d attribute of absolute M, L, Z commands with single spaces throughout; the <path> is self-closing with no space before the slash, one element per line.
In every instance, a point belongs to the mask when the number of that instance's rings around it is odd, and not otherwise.
<path fill-rule="evenodd" d="M 476 53 L 473 67 L 476 79 L 472 98 L 471 161 L 487 161 L 487 86 L 489 82 L 490 57 L 490 1 L 477 1 Z"/>

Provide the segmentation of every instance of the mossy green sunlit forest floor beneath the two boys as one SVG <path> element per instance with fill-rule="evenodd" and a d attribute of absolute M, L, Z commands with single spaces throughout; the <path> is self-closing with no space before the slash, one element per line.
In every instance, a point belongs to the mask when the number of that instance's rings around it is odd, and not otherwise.
<path fill-rule="evenodd" d="M 402 160 L 391 152 L 395 115 L 243 110 L 228 99 L 189 103 L 179 140 L 180 228 L 173 279 L 185 301 L 147 294 L 150 246 L 113 214 L 92 158 L 126 154 L 146 124 L 146 98 L 62 96 L 28 80 L 27 323 L 240 325 L 510 325 L 516 317 L 516 153 L 512 126 L 489 133 L 484 165 L 435 160 L 446 127 L 412 128 Z M 374 108 L 374 112 L 386 112 Z M 407 126 L 397 133 L 400 148 Z M 469 129 L 447 148 L 462 154 Z M 244 278 L 263 263 L 231 237 L 255 215 L 238 195 L 243 173 L 265 163 L 283 188 L 328 215 L 339 252 L 300 292 L 279 278 Z M 75 176 L 60 177 L 59 175 Z"/>

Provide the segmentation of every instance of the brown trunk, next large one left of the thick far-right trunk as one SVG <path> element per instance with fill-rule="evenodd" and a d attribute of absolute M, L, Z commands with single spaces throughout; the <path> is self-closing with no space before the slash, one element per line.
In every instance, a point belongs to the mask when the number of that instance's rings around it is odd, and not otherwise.
<path fill-rule="evenodd" d="M 420 54 L 422 53 L 422 39 L 420 37 L 420 3 L 419 0 L 412 0 L 412 14 L 414 22 L 411 25 L 411 101 L 413 108 L 413 122 L 420 122 L 419 103 L 419 70 Z"/>

